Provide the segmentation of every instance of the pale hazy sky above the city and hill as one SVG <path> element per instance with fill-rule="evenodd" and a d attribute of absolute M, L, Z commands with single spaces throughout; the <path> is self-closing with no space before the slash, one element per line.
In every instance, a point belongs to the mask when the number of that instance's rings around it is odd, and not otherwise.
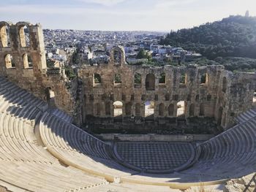
<path fill-rule="evenodd" d="M 0 0 L 0 20 L 43 28 L 170 31 L 256 15 L 256 0 Z"/>

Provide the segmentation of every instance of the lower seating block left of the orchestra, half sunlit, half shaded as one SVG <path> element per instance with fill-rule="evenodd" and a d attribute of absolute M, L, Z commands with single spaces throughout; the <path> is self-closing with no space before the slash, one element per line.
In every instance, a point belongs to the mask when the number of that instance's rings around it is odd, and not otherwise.
<path fill-rule="evenodd" d="M 65 164 L 109 181 L 135 173 L 113 161 L 110 145 L 72 124 L 61 123 L 59 118 L 48 112 L 43 115 L 39 130 L 42 142 L 50 153 Z"/>

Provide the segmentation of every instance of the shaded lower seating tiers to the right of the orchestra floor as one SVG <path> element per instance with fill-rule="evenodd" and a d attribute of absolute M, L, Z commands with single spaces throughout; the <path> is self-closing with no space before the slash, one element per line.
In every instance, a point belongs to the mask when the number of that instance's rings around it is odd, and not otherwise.
<path fill-rule="evenodd" d="M 241 177 L 256 167 L 256 118 L 201 144 L 197 163 L 185 172 Z"/>

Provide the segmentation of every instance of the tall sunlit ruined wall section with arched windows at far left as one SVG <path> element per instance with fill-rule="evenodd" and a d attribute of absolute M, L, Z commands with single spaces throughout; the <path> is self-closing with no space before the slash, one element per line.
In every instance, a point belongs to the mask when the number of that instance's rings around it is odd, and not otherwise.
<path fill-rule="evenodd" d="M 72 115 L 75 93 L 63 69 L 46 66 L 42 26 L 0 22 L 0 32 L 0 75 L 41 99 L 47 99 L 46 91 L 51 88 L 56 106 Z"/>

